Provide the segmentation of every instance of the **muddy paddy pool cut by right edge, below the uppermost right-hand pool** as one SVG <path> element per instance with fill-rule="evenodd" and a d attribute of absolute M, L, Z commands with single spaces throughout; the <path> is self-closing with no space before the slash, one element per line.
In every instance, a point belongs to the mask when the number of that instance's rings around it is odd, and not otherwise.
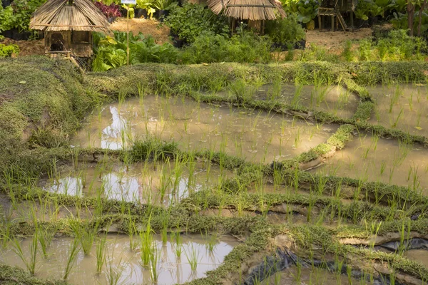
<path fill-rule="evenodd" d="M 344 150 L 310 172 L 428 188 L 428 150 L 372 135 L 357 136 Z M 428 192 L 426 193 L 428 194 Z"/>

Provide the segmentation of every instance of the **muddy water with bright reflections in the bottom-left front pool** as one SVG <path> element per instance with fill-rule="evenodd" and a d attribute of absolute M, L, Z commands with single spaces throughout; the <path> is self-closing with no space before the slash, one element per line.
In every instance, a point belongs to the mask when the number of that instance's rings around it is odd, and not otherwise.
<path fill-rule="evenodd" d="M 58 238 L 52 241 L 48 249 L 49 256 L 44 258 L 39 254 L 36 258 L 36 276 L 50 279 L 61 279 L 66 267 L 68 255 L 73 239 Z M 29 259 L 31 239 L 25 239 L 21 246 L 26 258 Z M 156 237 L 158 249 L 158 282 L 157 284 L 182 284 L 186 281 L 202 278 L 205 272 L 218 267 L 238 244 L 231 237 L 222 237 L 216 242 L 212 252 L 207 249 L 207 240 L 197 236 L 183 236 L 180 258 L 175 254 L 177 244 L 167 242 L 162 244 L 160 237 Z M 129 238 L 121 235 L 108 235 L 106 242 L 106 264 L 100 275 L 96 274 L 96 246 L 91 254 L 85 256 L 83 251 L 78 253 L 71 274 L 68 278 L 70 284 L 92 285 L 109 283 L 110 273 L 117 277 L 117 284 L 153 284 L 149 268 L 141 266 L 141 254 L 137 248 L 130 250 Z M 16 256 L 11 247 L 0 250 L 0 261 L 11 266 L 24 268 L 24 263 Z M 27 255 L 28 254 L 28 255 Z M 189 258 L 188 258 L 189 257 Z M 195 271 L 190 268 L 188 259 L 197 259 L 198 266 Z M 112 270 L 110 270 L 110 268 Z"/>

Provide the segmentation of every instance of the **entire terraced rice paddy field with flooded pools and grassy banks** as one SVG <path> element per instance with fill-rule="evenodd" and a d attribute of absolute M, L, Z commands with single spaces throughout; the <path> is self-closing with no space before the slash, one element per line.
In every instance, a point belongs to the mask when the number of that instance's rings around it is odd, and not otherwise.
<path fill-rule="evenodd" d="M 1 284 L 426 284 L 428 63 L 0 61 Z"/>

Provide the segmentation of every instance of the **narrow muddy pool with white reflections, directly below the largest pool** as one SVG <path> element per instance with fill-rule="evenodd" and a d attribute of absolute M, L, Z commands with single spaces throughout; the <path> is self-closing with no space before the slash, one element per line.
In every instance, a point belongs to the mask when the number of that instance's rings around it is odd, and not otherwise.
<path fill-rule="evenodd" d="M 179 202 L 192 192 L 216 187 L 232 172 L 203 162 L 142 162 L 126 165 L 99 163 L 63 170 L 41 182 L 50 192 L 106 197 L 127 202 L 164 204 Z"/>

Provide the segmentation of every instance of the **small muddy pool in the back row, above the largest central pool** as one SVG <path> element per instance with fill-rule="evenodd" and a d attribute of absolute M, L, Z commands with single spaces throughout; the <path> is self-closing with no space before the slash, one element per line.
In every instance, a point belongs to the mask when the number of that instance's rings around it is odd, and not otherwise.
<path fill-rule="evenodd" d="M 260 99 L 275 98 L 275 86 L 266 84 L 258 88 Z M 357 95 L 340 86 L 290 86 L 285 85 L 277 93 L 277 100 L 290 105 L 303 105 L 313 110 L 332 113 L 341 118 L 351 118 L 357 110 Z"/>

